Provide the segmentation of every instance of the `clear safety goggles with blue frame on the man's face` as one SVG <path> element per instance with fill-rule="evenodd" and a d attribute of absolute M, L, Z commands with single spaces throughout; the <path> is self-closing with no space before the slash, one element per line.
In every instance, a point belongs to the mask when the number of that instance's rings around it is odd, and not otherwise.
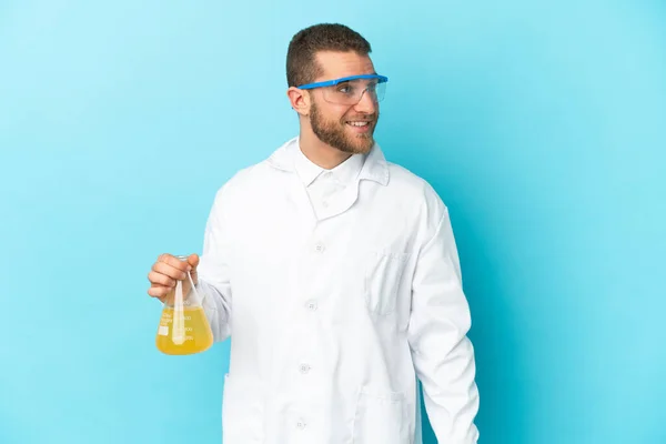
<path fill-rule="evenodd" d="M 361 101 L 364 92 L 367 92 L 374 102 L 381 102 L 386 92 L 389 78 L 377 74 L 362 74 L 343 77 L 342 79 L 327 80 L 324 82 L 307 83 L 297 87 L 301 90 L 322 90 L 324 100 L 335 104 L 352 105 Z"/>

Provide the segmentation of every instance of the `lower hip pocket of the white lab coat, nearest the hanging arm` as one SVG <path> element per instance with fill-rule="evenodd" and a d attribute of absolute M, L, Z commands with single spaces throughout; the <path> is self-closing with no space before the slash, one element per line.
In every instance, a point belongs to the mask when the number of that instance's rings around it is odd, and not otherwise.
<path fill-rule="evenodd" d="M 403 393 L 361 389 L 352 444 L 412 444 Z"/>

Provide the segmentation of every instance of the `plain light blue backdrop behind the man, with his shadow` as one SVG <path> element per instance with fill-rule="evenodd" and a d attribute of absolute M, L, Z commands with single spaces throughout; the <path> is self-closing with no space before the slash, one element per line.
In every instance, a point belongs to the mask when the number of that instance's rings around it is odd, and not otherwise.
<path fill-rule="evenodd" d="M 666 443 L 656 0 L 1 2 L 0 443 L 221 441 L 229 343 L 161 355 L 145 276 L 296 134 L 320 21 L 371 41 L 377 139 L 451 208 L 481 442 Z"/>

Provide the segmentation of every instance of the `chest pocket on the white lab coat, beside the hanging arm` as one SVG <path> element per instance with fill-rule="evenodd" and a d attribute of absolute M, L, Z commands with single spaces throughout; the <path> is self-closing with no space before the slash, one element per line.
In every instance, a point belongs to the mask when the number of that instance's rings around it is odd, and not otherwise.
<path fill-rule="evenodd" d="M 371 313 L 387 315 L 395 312 L 406 260 L 407 253 L 384 250 L 370 253 L 365 268 L 365 302 Z"/>

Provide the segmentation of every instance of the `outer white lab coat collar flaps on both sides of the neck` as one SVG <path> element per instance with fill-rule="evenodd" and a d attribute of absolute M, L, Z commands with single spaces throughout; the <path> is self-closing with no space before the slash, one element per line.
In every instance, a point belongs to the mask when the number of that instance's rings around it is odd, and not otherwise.
<path fill-rule="evenodd" d="M 281 171 L 296 172 L 295 154 L 297 153 L 295 150 L 300 150 L 299 137 L 286 141 L 282 147 L 275 150 L 268 159 L 268 163 Z M 314 180 L 314 178 L 312 179 Z M 363 168 L 359 173 L 359 179 L 372 180 L 382 185 L 389 184 L 389 164 L 379 143 L 375 142 L 372 150 L 366 155 Z"/>

